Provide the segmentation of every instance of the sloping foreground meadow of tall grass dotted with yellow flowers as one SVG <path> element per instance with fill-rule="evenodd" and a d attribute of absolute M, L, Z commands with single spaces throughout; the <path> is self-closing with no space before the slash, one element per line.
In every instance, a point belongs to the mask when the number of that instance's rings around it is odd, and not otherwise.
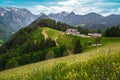
<path fill-rule="evenodd" d="M 120 42 L 6 70 L 0 80 L 120 80 Z"/>

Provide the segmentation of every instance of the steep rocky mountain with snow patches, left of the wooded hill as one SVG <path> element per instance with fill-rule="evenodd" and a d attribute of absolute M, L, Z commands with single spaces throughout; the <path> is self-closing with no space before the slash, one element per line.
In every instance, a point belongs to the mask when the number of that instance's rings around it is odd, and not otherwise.
<path fill-rule="evenodd" d="M 25 8 L 0 7 L 0 34 L 16 32 L 37 17 Z"/>

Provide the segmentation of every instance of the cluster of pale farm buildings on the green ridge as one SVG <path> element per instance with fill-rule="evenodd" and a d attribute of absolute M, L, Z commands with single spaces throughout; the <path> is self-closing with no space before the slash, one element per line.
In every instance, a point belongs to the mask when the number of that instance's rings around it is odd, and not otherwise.
<path fill-rule="evenodd" d="M 66 33 L 71 35 L 81 36 L 81 37 L 94 37 L 94 38 L 102 37 L 102 34 L 99 34 L 99 33 L 88 33 L 88 35 L 80 34 L 80 32 L 77 31 L 77 29 L 67 29 Z"/>

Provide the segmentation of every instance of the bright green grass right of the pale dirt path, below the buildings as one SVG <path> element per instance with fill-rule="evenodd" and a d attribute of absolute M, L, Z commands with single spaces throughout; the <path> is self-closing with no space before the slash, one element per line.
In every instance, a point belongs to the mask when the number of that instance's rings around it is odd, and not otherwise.
<path fill-rule="evenodd" d="M 73 39 L 75 37 L 72 35 L 67 35 L 64 32 L 60 32 L 50 28 L 42 28 L 42 30 L 45 30 L 49 38 L 52 38 L 53 40 L 57 38 L 57 43 L 59 45 L 66 45 L 67 47 L 72 47 L 74 44 Z"/>

